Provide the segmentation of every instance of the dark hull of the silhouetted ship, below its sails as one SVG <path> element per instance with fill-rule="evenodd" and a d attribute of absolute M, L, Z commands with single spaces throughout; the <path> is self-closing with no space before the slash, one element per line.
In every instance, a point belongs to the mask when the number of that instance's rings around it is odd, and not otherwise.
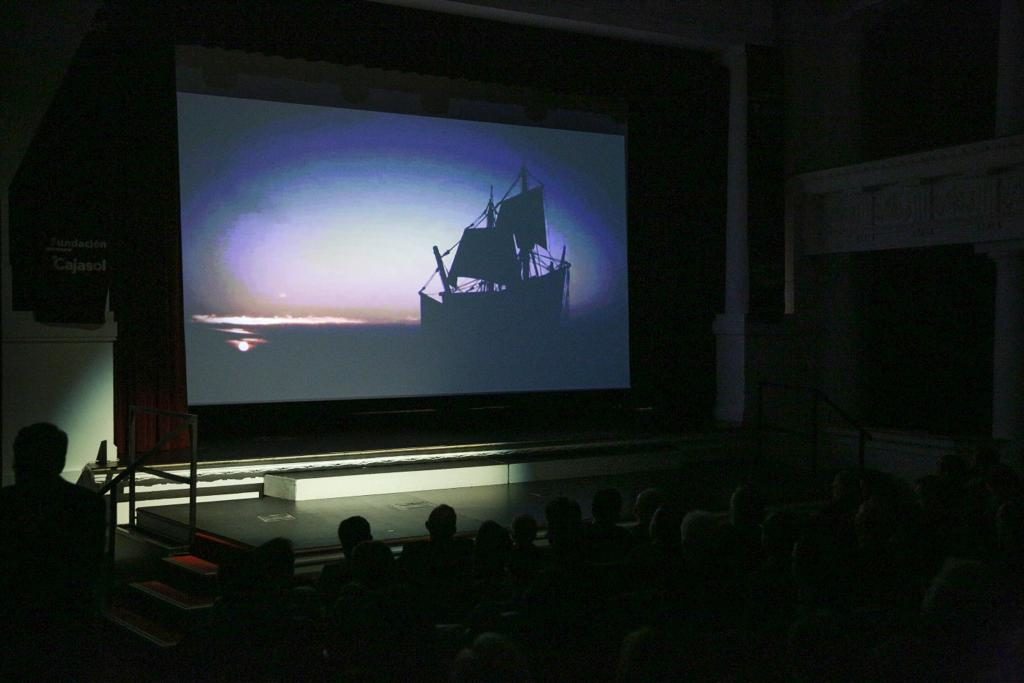
<path fill-rule="evenodd" d="M 451 292 L 440 300 L 420 294 L 420 326 L 434 334 L 514 335 L 557 326 L 563 315 L 568 267 L 500 292 Z"/>

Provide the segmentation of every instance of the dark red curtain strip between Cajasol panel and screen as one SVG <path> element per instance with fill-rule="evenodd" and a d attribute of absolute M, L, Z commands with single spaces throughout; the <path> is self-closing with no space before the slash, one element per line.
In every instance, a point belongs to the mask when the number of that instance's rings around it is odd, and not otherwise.
<path fill-rule="evenodd" d="M 117 197 L 118 254 L 111 303 L 118 323 L 114 347 L 114 430 L 128 453 L 130 405 L 183 413 L 185 391 L 181 249 L 177 175 L 174 46 L 159 8 L 113 16 L 114 49 L 122 53 L 122 97 L 112 170 Z M 143 453 L 183 426 L 179 419 L 139 416 L 136 449 Z M 184 462 L 187 431 L 151 463 Z"/>

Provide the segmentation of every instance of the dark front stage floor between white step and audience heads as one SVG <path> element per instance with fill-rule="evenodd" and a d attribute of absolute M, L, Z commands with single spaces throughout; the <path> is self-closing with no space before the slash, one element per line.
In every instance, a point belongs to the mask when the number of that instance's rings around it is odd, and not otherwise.
<path fill-rule="evenodd" d="M 630 514 L 636 495 L 657 486 L 687 509 L 725 510 L 732 489 L 746 478 L 746 464 L 714 461 L 687 463 L 671 471 L 644 471 L 605 476 L 554 479 L 501 485 L 465 486 L 410 493 L 349 496 L 315 501 L 289 501 L 261 497 L 247 500 L 201 503 L 197 511 L 199 531 L 245 546 L 257 546 L 276 537 L 290 539 L 296 553 L 321 555 L 336 552 L 338 522 L 362 515 L 374 538 L 392 544 L 426 535 L 424 522 L 430 510 L 442 503 L 458 514 L 460 533 L 473 533 L 493 519 L 510 525 L 519 514 L 532 515 L 544 524 L 544 508 L 558 496 L 578 501 L 584 517 L 590 516 L 590 501 L 601 488 L 616 488 L 623 496 L 624 515 Z M 777 482 L 766 499 L 772 504 L 804 502 L 819 488 L 794 473 L 777 473 Z M 826 492 L 827 489 L 820 489 Z M 173 536 L 187 528 L 188 506 L 167 505 L 140 508 L 142 529 Z"/>

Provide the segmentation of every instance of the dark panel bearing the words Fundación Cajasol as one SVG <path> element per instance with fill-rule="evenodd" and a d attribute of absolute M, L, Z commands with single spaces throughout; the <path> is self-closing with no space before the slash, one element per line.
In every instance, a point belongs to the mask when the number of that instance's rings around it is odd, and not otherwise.
<path fill-rule="evenodd" d="M 9 188 L 11 300 L 40 323 L 99 325 L 119 224 L 116 52 L 83 39 Z"/>

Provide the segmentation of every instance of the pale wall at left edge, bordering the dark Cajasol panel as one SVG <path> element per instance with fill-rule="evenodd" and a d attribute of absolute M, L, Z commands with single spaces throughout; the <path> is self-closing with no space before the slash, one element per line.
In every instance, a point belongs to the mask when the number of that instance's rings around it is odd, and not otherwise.
<path fill-rule="evenodd" d="M 93 329 L 39 325 L 11 310 L 7 188 L 100 0 L 0 3 L 0 323 L 3 346 L 3 483 L 20 427 L 54 422 L 68 432 L 66 476 L 77 478 L 101 439 L 113 444 L 112 322 Z M 108 316 L 110 319 L 110 316 Z M 113 446 L 112 446 L 113 447 Z M 113 452 L 109 452 L 114 457 Z"/>

